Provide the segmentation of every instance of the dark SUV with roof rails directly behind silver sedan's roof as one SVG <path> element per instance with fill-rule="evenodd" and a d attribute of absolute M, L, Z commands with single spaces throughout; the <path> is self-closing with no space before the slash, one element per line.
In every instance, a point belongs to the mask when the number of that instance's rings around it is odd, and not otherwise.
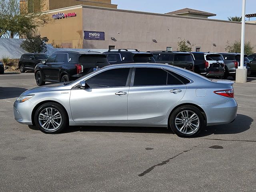
<path fill-rule="evenodd" d="M 156 63 L 152 53 L 137 49 L 112 49 L 104 52 L 110 64 L 122 63 Z"/>

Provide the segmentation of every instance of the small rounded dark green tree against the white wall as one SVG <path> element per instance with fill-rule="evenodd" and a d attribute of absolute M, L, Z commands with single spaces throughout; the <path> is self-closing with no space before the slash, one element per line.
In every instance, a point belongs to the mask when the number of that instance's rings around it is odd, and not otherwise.
<path fill-rule="evenodd" d="M 41 38 L 40 35 L 37 35 L 24 40 L 20 47 L 30 53 L 45 53 L 47 51 L 46 42 L 48 40 L 47 37 Z"/>

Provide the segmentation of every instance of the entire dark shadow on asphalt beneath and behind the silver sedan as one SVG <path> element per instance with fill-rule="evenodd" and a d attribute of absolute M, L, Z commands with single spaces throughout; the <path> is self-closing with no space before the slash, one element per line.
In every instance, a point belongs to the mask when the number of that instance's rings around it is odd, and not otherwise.
<path fill-rule="evenodd" d="M 208 126 L 198 137 L 212 134 L 237 134 L 250 129 L 253 119 L 238 114 L 234 122 L 226 125 Z M 32 130 L 38 130 L 35 126 L 29 126 Z M 124 133 L 154 133 L 154 134 L 174 134 L 172 130 L 162 127 L 121 127 L 121 126 L 69 126 L 61 134 L 72 132 L 124 132 Z"/>

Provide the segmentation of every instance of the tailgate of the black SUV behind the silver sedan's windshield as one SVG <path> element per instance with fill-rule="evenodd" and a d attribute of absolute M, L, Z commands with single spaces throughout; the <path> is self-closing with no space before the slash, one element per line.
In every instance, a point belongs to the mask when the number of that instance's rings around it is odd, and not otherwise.
<path fill-rule="evenodd" d="M 81 55 L 78 64 L 83 66 L 84 75 L 110 65 L 104 54 Z"/>

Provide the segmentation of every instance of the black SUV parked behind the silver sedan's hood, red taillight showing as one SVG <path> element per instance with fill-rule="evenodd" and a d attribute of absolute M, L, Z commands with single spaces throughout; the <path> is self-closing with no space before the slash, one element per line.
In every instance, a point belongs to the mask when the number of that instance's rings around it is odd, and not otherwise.
<path fill-rule="evenodd" d="M 36 84 L 68 82 L 110 65 L 100 52 L 58 51 L 35 68 Z"/>

